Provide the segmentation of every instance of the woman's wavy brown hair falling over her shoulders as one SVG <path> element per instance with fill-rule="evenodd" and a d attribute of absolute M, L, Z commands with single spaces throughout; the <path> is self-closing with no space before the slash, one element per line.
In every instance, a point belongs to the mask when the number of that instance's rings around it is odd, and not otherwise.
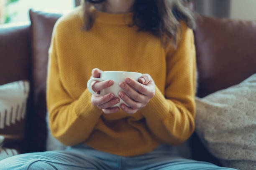
<path fill-rule="evenodd" d="M 84 15 L 83 30 L 89 31 L 94 22 L 94 4 L 105 0 L 81 0 Z M 172 43 L 176 46 L 180 21 L 191 29 L 195 28 L 195 15 L 188 8 L 188 0 L 136 0 L 132 6 L 133 25 L 138 31 L 151 32 L 160 37 L 162 45 Z"/>

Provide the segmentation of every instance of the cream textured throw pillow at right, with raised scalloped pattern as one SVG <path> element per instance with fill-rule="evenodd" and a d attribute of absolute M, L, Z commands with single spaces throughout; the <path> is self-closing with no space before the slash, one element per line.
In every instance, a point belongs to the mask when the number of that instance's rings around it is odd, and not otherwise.
<path fill-rule="evenodd" d="M 196 106 L 196 133 L 210 153 L 226 167 L 256 170 L 256 74 Z"/>

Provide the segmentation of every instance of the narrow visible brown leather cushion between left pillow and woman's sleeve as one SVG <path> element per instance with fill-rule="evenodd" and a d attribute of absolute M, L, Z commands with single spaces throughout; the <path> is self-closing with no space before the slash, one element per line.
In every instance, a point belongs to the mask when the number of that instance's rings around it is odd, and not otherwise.
<path fill-rule="evenodd" d="M 46 150 L 46 75 L 51 34 L 59 13 L 30 10 L 32 38 L 33 115 L 31 152 Z"/>

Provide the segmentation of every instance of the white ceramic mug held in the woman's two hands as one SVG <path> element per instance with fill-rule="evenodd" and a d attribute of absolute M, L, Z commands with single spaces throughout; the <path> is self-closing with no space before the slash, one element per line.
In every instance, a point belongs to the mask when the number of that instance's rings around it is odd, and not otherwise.
<path fill-rule="evenodd" d="M 142 74 L 138 72 L 127 72 L 127 71 L 103 71 L 100 72 L 100 78 L 92 78 L 88 80 L 87 82 L 87 88 L 94 96 L 102 96 L 106 95 L 108 93 L 113 93 L 115 97 L 118 97 L 120 99 L 120 102 L 112 107 L 120 107 L 120 105 L 125 102 L 119 97 L 118 92 L 122 91 L 122 88 L 119 86 L 120 82 L 124 82 L 125 78 L 130 77 L 133 80 L 138 81 L 138 78 L 141 77 Z M 97 94 L 95 91 L 92 90 L 92 82 L 98 81 L 107 81 L 107 80 L 113 80 L 114 84 L 108 88 L 105 88 L 100 91 L 100 94 Z M 126 104 L 127 105 L 127 104 Z"/>

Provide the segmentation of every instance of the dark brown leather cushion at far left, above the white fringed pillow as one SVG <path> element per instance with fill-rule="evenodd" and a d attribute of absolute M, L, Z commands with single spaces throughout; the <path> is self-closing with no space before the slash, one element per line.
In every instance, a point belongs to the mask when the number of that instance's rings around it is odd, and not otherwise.
<path fill-rule="evenodd" d="M 0 85 L 29 79 L 29 27 L 5 25 L 0 28 Z"/>

